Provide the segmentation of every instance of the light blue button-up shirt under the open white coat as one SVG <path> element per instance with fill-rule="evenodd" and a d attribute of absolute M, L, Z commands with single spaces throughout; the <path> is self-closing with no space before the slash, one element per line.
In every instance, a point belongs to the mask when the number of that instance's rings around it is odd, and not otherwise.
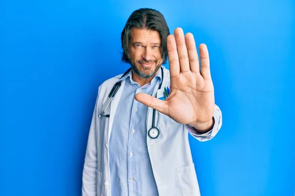
<path fill-rule="evenodd" d="M 150 83 L 140 86 L 132 80 L 132 71 L 120 80 L 126 80 L 112 127 L 109 156 L 112 196 L 158 196 L 147 147 L 148 106 L 135 100 L 137 93 L 152 94 L 160 83 L 161 70 Z"/>

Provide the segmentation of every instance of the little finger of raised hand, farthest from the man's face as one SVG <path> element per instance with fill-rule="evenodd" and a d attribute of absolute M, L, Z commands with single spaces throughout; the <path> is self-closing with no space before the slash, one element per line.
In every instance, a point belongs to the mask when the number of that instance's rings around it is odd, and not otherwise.
<path fill-rule="evenodd" d="M 199 46 L 201 58 L 201 75 L 204 79 L 211 79 L 209 52 L 205 44 Z"/>

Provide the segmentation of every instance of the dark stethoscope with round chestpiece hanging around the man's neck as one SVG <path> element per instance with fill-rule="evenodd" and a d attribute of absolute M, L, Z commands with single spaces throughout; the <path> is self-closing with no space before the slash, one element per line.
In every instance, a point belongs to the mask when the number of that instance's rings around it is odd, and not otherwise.
<path fill-rule="evenodd" d="M 120 77 L 120 79 L 121 79 L 122 77 L 124 77 L 124 76 L 125 76 L 130 70 L 131 70 L 131 68 L 129 68 L 129 69 L 128 69 L 128 70 L 127 70 L 127 71 L 126 71 L 121 77 Z M 163 68 L 162 68 L 162 67 L 161 67 L 161 72 L 162 72 L 162 81 L 161 81 L 161 83 L 160 83 L 160 86 L 159 86 L 158 90 L 161 89 L 161 87 L 162 87 L 162 83 L 163 83 L 163 75 L 164 75 L 164 72 L 163 72 Z M 101 118 L 101 117 L 110 117 L 109 114 L 104 115 L 104 113 L 105 113 L 106 110 L 108 109 L 108 107 L 109 107 L 111 101 L 112 101 L 113 98 L 115 97 L 115 95 L 116 95 L 118 89 L 120 88 L 120 86 L 121 86 L 121 81 L 118 81 L 118 82 L 114 85 L 114 87 L 112 88 L 112 90 L 111 90 L 111 92 L 110 92 L 110 94 L 109 94 L 109 96 L 108 96 L 108 98 L 107 98 L 105 104 L 103 105 L 103 107 L 102 107 L 102 109 L 101 109 L 100 114 L 98 115 L 99 118 Z M 157 127 L 155 127 L 155 114 L 156 114 L 156 110 L 153 109 L 153 113 L 152 113 L 152 126 L 151 126 L 151 128 L 148 130 L 148 137 L 150 137 L 151 139 L 156 139 L 156 138 L 159 136 L 159 134 L 160 134 L 160 130 L 159 130 Z"/>

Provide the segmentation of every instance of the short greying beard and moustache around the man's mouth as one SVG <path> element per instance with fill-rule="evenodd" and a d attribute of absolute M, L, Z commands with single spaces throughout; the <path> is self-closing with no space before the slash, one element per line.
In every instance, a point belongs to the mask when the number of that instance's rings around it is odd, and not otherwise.
<path fill-rule="evenodd" d="M 139 69 L 140 65 L 138 67 L 136 66 L 139 63 L 155 63 L 156 64 L 156 67 L 155 67 L 155 70 L 153 72 L 149 73 L 148 71 L 152 70 L 152 68 L 151 67 L 148 67 L 148 68 L 144 68 L 144 70 L 140 70 Z M 130 64 L 131 64 L 132 70 L 136 74 L 138 74 L 142 78 L 146 78 L 146 79 L 154 76 L 158 72 L 158 70 L 160 69 L 160 67 L 161 67 L 161 64 L 158 64 L 158 60 L 146 61 L 146 60 L 142 59 L 142 60 L 138 60 L 136 62 L 133 62 L 132 61 Z"/>

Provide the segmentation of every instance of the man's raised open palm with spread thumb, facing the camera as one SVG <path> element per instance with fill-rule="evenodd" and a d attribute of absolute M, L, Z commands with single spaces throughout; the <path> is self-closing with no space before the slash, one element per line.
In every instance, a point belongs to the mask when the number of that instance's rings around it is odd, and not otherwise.
<path fill-rule="evenodd" d="M 171 117 L 178 123 L 189 124 L 197 129 L 212 125 L 214 113 L 214 88 L 211 80 L 207 46 L 199 46 L 199 55 L 191 33 L 184 36 L 181 28 L 175 29 L 175 36 L 167 38 L 170 65 L 170 94 L 160 100 L 139 93 L 135 99 Z"/>

